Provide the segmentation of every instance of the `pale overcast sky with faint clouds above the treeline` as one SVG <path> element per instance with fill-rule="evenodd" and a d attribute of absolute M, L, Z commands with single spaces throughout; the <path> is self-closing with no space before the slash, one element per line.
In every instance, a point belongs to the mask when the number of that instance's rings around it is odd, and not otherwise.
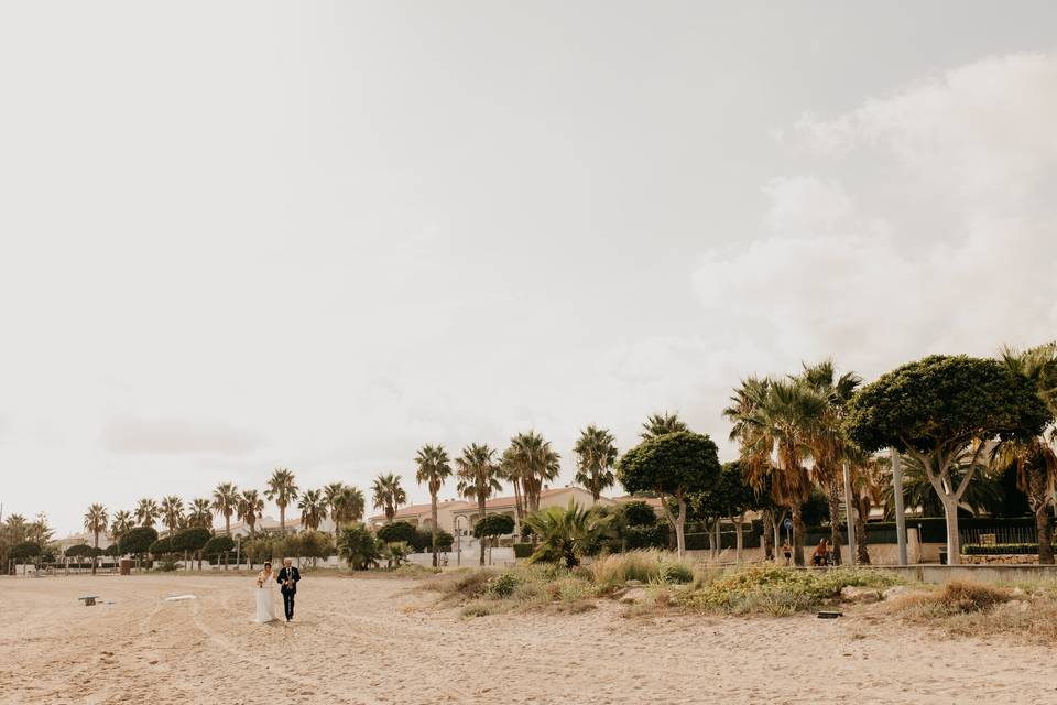
<path fill-rule="evenodd" d="M 422 499 L 423 443 L 528 429 L 567 480 L 588 423 L 726 438 L 751 372 L 1051 339 L 1054 26 L 1046 1 L 2 1 L 3 511 L 65 533 L 275 466 Z"/>

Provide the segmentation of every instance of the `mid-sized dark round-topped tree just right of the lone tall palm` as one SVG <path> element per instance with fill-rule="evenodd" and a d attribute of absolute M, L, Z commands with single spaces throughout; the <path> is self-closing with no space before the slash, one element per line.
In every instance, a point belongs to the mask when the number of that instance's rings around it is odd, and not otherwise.
<path fill-rule="evenodd" d="M 617 479 L 629 492 L 656 492 L 661 506 L 675 527 L 679 555 L 686 554 L 684 527 L 687 499 L 696 492 L 708 492 L 719 481 L 719 457 L 716 444 L 707 435 L 677 431 L 643 441 L 624 454 L 617 466 Z M 678 511 L 673 516 L 667 499 Z"/>

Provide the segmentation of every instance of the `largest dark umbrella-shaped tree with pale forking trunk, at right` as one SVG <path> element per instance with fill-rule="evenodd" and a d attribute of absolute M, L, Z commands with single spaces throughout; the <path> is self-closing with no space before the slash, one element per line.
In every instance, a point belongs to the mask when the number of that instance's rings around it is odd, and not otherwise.
<path fill-rule="evenodd" d="M 947 556 L 959 563 L 958 503 L 981 465 L 984 445 L 1038 435 L 1049 422 L 1034 382 L 996 360 L 934 355 L 863 387 L 848 404 L 844 430 L 867 452 L 894 447 L 925 468 L 947 518 Z M 968 469 L 954 481 L 956 460 Z"/>

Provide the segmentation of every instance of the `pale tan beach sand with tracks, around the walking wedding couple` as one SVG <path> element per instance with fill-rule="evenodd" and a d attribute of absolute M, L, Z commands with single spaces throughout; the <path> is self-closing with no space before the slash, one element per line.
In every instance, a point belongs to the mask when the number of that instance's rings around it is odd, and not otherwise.
<path fill-rule="evenodd" d="M 287 627 L 251 622 L 249 577 L 0 578 L 0 703 L 1057 702 L 1048 649 L 875 611 L 460 619 L 415 585 L 309 574 Z"/>

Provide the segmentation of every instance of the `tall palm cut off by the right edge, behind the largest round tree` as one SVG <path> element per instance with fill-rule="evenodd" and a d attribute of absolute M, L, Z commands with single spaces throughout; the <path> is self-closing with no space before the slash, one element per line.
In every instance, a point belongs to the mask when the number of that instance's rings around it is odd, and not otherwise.
<path fill-rule="evenodd" d="M 1057 343 L 1047 343 L 1027 350 L 1005 348 L 1002 350 L 1005 367 L 1035 382 L 1038 395 L 1046 402 L 1050 413 L 1057 416 Z M 1054 529 L 1049 522 L 1049 505 L 1055 501 L 1057 486 L 1057 427 L 1050 425 L 1049 440 L 1046 431 L 1028 441 L 1002 441 L 991 452 L 992 469 L 999 471 L 1016 466 L 1016 486 L 1027 496 L 1035 514 L 1035 533 L 1038 539 L 1038 562 L 1054 564 Z M 972 486 L 970 485 L 970 488 Z"/>

